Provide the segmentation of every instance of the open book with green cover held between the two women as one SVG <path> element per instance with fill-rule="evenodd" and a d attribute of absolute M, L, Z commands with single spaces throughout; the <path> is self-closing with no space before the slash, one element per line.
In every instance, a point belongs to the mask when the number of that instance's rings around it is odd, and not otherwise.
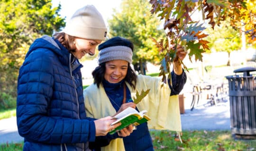
<path fill-rule="evenodd" d="M 148 117 L 145 113 L 147 111 L 143 110 L 141 112 L 138 112 L 136 109 L 133 109 L 131 107 L 128 107 L 127 109 L 123 110 L 119 114 L 117 114 L 113 119 L 117 119 L 115 122 L 113 122 L 111 125 L 114 125 L 118 122 L 121 122 L 121 125 L 116 127 L 114 130 L 110 131 L 110 134 L 114 134 L 117 131 L 133 124 L 134 126 L 140 125 L 142 123 L 145 123 L 146 121 L 150 120 L 150 117 Z"/>

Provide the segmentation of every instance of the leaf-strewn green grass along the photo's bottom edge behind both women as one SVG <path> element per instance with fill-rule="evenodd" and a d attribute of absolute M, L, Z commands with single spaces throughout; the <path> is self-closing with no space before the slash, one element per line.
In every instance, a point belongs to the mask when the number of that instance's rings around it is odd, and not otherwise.
<path fill-rule="evenodd" d="M 256 140 L 235 140 L 230 131 L 184 131 L 183 143 L 171 131 L 150 131 L 155 151 L 255 151 Z M 0 151 L 22 151 L 23 143 L 0 144 Z"/>

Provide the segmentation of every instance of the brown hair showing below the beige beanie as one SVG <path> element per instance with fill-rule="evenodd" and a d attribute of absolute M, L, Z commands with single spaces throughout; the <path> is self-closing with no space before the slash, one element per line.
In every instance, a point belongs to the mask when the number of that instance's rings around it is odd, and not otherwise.
<path fill-rule="evenodd" d="M 53 37 L 57 39 L 69 52 L 75 52 L 75 37 L 65 34 L 64 32 L 55 33 Z"/>

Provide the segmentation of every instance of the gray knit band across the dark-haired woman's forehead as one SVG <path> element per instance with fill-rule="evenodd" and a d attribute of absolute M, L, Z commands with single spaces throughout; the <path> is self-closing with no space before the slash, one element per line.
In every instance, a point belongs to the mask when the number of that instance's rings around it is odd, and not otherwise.
<path fill-rule="evenodd" d="M 111 46 L 100 50 L 99 64 L 110 60 L 125 60 L 132 63 L 132 50 L 126 46 Z"/>

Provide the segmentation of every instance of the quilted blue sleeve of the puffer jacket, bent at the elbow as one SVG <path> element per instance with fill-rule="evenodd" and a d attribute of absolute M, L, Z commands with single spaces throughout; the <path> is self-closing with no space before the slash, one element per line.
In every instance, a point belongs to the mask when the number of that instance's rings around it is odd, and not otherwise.
<path fill-rule="evenodd" d="M 48 116 L 54 89 L 52 66 L 55 59 L 51 51 L 34 50 L 20 68 L 17 97 L 18 133 L 28 141 L 41 143 L 93 141 L 95 136 L 90 136 L 89 133 L 91 126 L 95 127 L 93 121 Z"/>

